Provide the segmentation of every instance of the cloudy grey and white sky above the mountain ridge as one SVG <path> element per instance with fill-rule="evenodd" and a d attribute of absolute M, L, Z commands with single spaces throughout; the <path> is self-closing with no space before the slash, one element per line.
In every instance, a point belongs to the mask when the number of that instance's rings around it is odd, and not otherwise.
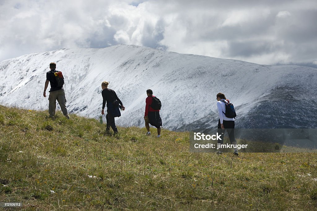
<path fill-rule="evenodd" d="M 316 0 L 0 0 L 0 61 L 133 44 L 317 67 Z"/>

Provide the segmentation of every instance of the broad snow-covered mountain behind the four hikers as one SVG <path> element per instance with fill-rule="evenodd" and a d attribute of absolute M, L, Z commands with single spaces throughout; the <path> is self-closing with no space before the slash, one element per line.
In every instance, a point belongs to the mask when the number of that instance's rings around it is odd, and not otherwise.
<path fill-rule="evenodd" d="M 60 49 L 4 60 L 0 103 L 48 109 L 42 93 L 50 62 L 65 77 L 70 113 L 97 118 L 101 82 L 109 81 L 126 107 L 116 118 L 121 126 L 144 127 L 146 90 L 152 89 L 163 105 L 163 127 L 172 130 L 216 127 L 218 92 L 235 105 L 237 128 L 317 128 L 316 68 L 258 65 L 134 45 Z"/>

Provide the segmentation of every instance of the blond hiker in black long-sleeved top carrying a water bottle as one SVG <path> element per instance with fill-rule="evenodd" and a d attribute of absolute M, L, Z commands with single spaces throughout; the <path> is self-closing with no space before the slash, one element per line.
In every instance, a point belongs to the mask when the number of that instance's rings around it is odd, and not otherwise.
<path fill-rule="evenodd" d="M 119 104 L 121 105 L 121 109 L 124 110 L 125 107 L 123 106 L 121 100 L 118 98 L 117 94 L 115 93 L 115 91 L 113 91 L 112 89 L 108 89 L 108 84 L 109 82 L 104 81 L 101 83 L 101 88 L 102 88 L 102 98 L 103 98 L 103 102 L 102 102 L 102 110 L 101 110 L 101 114 L 104 115 L 104 109 L 106 106 L 106 102 L 107 102 L 107 115 L 106 115 L 106 119 L 107 119 L 107 128 L 106 128 L 106 133 L 110 133 L 110 127 L 113 129 L 113 135 L 118 134 L 118 129 L 116 127 L 116 124 L 114 122 L 114 117 L 119 117 L 120 114 L 120 110 L 119 110 Z"/>

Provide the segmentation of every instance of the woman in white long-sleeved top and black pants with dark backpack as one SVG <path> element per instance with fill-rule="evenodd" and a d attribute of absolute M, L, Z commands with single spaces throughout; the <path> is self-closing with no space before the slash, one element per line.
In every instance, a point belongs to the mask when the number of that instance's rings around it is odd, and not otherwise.
<path fill-rule="evenodd" d="M 234 155 L 238 156 L 238 149 L 236 148 L 237 142 L 235 139 L 235 119 L 229 118 L 225 115 L 226 113 L 226 104 L 230 103 L 229 100 L 226 99 L 223 93 L 217 94 L 217 109 L 219 113 L 219 120 L 218 120 L 218 134 L 222 135 L 220 136 L 221 140 L 218 140 L 218 144 L 223 144 L 223 134 L 224 131 L 227 130 L 227 133 L 229 135 L 230 144 L 235 145 L 234 147 Z M 221 154 L 221 150 L 217 152 L 217 154 Z"/>

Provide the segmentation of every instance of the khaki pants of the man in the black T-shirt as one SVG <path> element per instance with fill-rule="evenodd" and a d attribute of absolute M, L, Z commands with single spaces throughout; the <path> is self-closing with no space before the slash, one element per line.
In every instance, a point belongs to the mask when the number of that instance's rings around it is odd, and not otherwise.
<path fill-rule="evenodd" d="M 49 116 L 55 116 L 56 100 L 61 107 L 63 115 L 68 116 L 66 107 L 66 97 L 64 90 L 52 91 L 49 93 Z"/>

